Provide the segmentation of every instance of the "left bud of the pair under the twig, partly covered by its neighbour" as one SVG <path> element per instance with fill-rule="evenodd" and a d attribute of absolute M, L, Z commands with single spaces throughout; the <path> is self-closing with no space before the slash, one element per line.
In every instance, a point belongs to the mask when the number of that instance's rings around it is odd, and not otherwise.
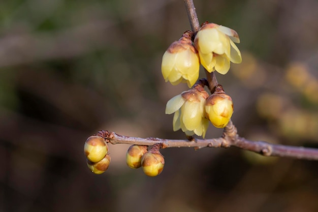
<path fill-rule="evenodd" d="M 137 169 L 141 167 L 141 157 L 148 151 L 148 146 L 132 145 L 126 153 L 126 163 L 129 167 Z"/>

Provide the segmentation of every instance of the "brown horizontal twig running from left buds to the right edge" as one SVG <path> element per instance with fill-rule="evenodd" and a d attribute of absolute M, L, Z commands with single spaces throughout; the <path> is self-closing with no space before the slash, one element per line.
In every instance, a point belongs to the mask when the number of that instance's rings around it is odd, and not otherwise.
<path fill-rule="evenodd" d="M 231 125 L 231 124 L 230 124 Z M 203 147 L 230 147 L 236 146 L 241 149 L 249 150 L 263 156 L 279 156 L 306 160 L 318 160 L 318 149 L 298 146 L 287 146 L 271 144 L 265 141 L 251 141 L 239 137 L 234 131 L 227 133 L 220 138 L 214 139 L 196 139 L 189 140 L 169 140 L 162 138 L 136 138 L 118 135 L 114 132 L 100 131 L 97 135 L 106 139 L 111 144 L 135 144 L 151 146 L 155 143 L 162 143 L 162 148 L 169 147 L 194 147 L 195 149 Z"/>

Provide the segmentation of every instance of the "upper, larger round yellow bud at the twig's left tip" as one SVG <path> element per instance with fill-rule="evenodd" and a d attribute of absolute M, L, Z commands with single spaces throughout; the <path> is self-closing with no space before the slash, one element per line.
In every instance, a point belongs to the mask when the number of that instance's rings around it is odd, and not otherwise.
<path fill-rule="evenodd" d="M 85 141 L 84 153 L 89 161 L 93 163 L 99 162 L 108 153 L 105 139 L 100 136 L 90 136 Z"/>

